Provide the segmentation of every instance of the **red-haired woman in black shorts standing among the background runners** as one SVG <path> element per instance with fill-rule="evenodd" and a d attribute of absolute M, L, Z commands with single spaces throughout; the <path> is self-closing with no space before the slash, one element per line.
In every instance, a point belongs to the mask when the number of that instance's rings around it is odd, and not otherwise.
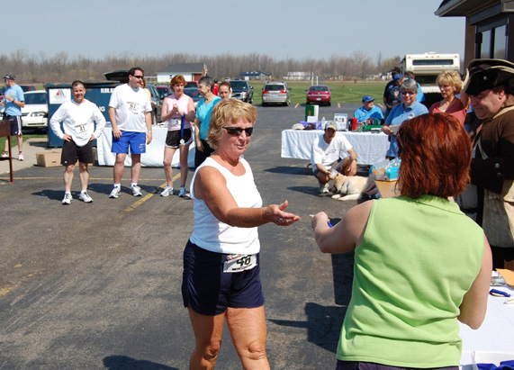
<path fill-rule="evenodd" d="M 173 95 L 169 95 L 164 99 L 162 113 L 160 115 L 161 121 L 167 122 L 167 137 L 163 160 L 167 186 L 160 195 L 167 196 L 174 194 L 171 161 L 173 160 L 176 149 L 179 149 L 180 191 L 178 196 L 189 197 L 189 193 L 185 190 L 185 180 L 187 179 L 187 172 L 189 171 L 189 167 L 187 167 L 189 145 L 193 142 L 191 122 L 194 122 L 194 102 L 190 96 L 184 94 L 184 76 L 174 76 L 169 86 L 173 90 Z"/>

